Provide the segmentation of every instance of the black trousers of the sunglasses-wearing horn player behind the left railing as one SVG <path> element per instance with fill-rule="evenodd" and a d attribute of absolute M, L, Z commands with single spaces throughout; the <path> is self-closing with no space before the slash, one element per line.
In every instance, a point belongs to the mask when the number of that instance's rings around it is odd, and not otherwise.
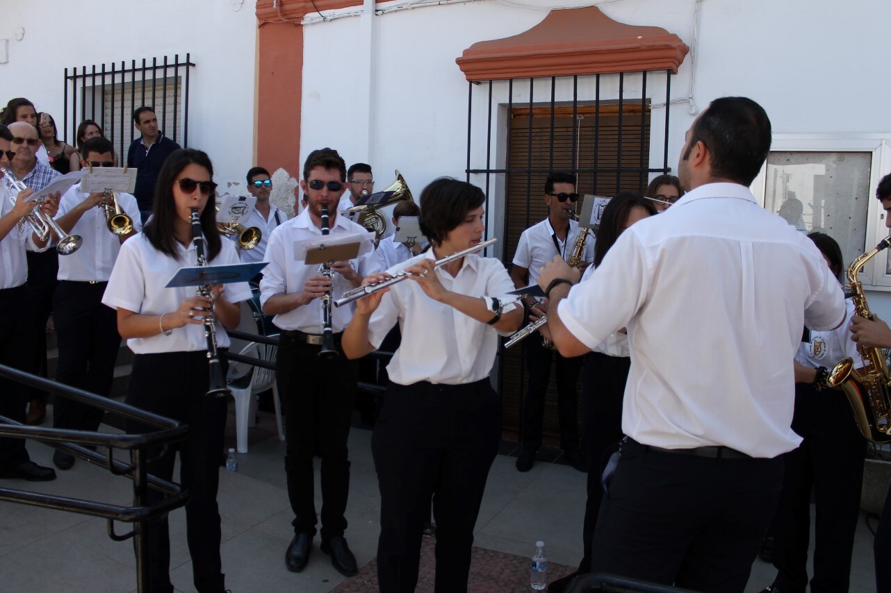
<path fill-rule="evenodd" d="M 53 296 L 53 321 L 59 342 L 55 380 L 108 397 L 114 379 L 120 335 L 117 313 L 102 305 L 108 282 L 61 280 Z M 96 430 L 102 410 L 57 395 L 53 426 Z"/>

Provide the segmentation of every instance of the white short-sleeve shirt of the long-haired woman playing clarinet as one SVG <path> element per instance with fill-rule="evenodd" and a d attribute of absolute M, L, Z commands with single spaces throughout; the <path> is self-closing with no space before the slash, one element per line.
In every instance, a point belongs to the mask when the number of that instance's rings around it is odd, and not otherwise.
<path fill-rule="evenodd" d="M 239 264 L 232 243 L 221 242 L 219 254 L 208 264 Z M 176 246 L 178 256 L 173 258 L 153 248 L 142 232 L 126 240 L 120 246 L 118 261 L 111 271 L 102 303 L 115 310 L 123 308 L 143 315 L 176 311 L 185 298 L 195 296 L 197 292 L 195 287 L 165 288 L 177 270 L 195 265 L 194 244 L 189 243 L 188 248 L 179 243 Z M 247 282 L 226 284 L 223 298 L 230 303 L 246 301 L 250 298 L 250 287 Z M 227 347 L 230 344 L 229 336 L 219 321 L 216 329 L 217 346 Z M 206 350 L 208 342 L 204 337 L 203 325 L 187 323 L 182 328 L 174 329 L 169 336 L 131 337 L 127 340 L 127 346 L 137 354 L 195 352 Z"/>

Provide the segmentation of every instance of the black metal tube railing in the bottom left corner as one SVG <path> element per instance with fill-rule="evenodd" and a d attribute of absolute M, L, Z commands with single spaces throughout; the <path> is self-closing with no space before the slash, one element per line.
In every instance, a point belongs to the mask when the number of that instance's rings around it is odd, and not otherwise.
<path fill-rule="evenodd" d="M 90 394 L 82 389 L 61 385 L 49 379 L 37 377 L 29 373 L 0 365 L 0 376 L 23 385 L 37 387 L 43 391 L 67 397 L 75 402 L 86 403 L 100 410 L 118 414 L 146 425 L 157 426 L 158 431 L 143 435 L 114 435 L 110 433 L 89 432 L 83 430 L 67 430 L 62 428 L 44 428 L 41 426 L 23 426 L 10 418 L 0 416 L 0 436 L 29 438 L 47 443 L 59 451 L 85 459 L 94 465 L 105 467 L 114 475 L 125 475 L 133 480 L 133 504 L 129 507 L 110 504 L 97 500 L 72 499 L 57 494 L 35 491 L 0 488 L 0 500 L 18 502 L 35 507 L 54 508 L 69 513 L 102 517 L 108 521 L 108 533 L 112 540 L 122 541 L 134 539 L 136 553 L 136 587 L 140 593 L 149 590 L 149 548 L 145 541 L 144 526 L 146 522 L 167 514 L 174 508 L 184 506 L 188 491 L 184 491 L 177 483 L 162 480 L 149 475 L 146 463 L 150 450 L 163 451 L 170 443 L 185 438 L 188 426 L 170 418 L 152 414 L 126 403 L 115 402 L 100 395 Z M 82 445 L 106 447 L 105 455 L 91 451 Z M 130 451 L 130 463 L 114 459 L 115 449 Z M 147 503 L 148 489 L 152 488 L 165 494 L 165 498 L 156 503 Z M 118 534 L 114 522 L 132 523 L 134 529 Z"/>

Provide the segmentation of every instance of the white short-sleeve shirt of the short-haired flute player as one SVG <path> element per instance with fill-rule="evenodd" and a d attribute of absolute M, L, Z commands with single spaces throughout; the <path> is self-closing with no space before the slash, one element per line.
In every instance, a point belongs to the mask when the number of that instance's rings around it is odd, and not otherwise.
<path fill-rule="evenodd" d="M 434 259 L 433 249 L 388 270 L 396 273 L 421 259 Z M 491 257 L 464 256 L 461 270 L 453 278 L 442 267 L 437 278 L 453 292 L 467 296 L 503 297 L 514 289 L 504 265 Z M 503 313 L 517 305 L 506 305 Z M 369 322 L 369 342 L 375 347 L 399 322 L 402 343 L 387 366 L 389 378 L 399 385 L 418 381 L 461 385 L 486 378 L 495 362 L 498 332 L 454 307 L 437 303 L 413 280 L 394 284 L 380 299 Z"/>

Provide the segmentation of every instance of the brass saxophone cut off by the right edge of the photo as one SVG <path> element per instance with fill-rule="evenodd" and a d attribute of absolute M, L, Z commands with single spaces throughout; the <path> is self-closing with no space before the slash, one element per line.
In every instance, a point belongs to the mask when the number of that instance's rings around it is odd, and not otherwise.
<path fill-rule="evenodd" d="M 857 276 L 872 257 L 889 246 L 891 237 L 882 240 L 869 253 L 857 257 L 847 268 L 847 288 L 853 295 L 854 312 L 863 319 L 872 319 L 872 313 L 863 294 L 862 282 L 857 280 Z M 857 428 L 866 440 L 872 443 L 887 443 L 891 441 L 891 414 L 889 414 L 891 377 L 888 376 L 885 354 L 880 348 L 860 345 L 857 346 L 857 351 L 863 362 L 860 374 L 854 371 L 854 360 L 847 356 L 830 370 L 826 385 L 838 386 L 845 393 L 854 411 Z"/>

